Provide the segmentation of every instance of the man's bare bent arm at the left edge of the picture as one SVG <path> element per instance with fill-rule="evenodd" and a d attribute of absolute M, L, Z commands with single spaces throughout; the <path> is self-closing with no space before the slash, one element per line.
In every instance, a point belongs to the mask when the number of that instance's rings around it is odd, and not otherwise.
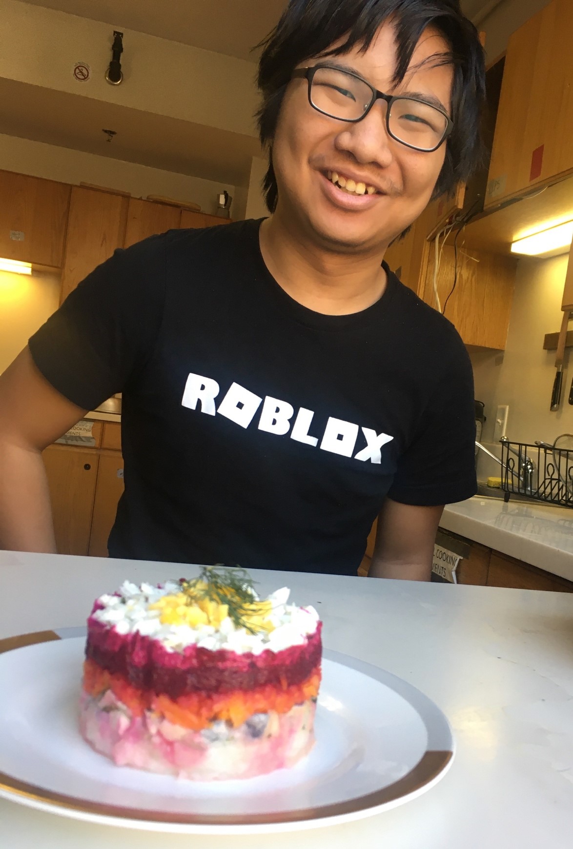
<path fill-rule="evenodd" d="M 0 548 L 55 552 L 42 451 L 84 413 L 42 377 L 27 347 L 0 374 Z"/>

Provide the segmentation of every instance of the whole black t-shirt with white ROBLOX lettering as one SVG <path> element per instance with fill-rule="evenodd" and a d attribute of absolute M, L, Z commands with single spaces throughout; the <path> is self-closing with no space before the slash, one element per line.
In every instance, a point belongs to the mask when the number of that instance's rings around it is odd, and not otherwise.
<path fill-rule="evenodd" d="M 30 340 L 93 409 L 123 393 L 115 557 L 356 574 L 385 496 L 475 493 L 469 357 L 388 273 L 362 312 L 312 312 L 272 278 L 260 222 L 116 250 Z"/>

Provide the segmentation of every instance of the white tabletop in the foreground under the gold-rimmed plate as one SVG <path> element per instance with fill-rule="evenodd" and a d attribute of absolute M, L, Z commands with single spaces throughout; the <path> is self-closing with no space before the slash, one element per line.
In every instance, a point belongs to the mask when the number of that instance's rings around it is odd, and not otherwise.
<path fill-rule="evenodd" d="M 513 509 L 513 508 L 510 508 Z M 462 511 L 463 512 L 463 511 Z M 126 577 L 192 570 L 0 552 L 0 638 L 84 623 Z M 314 604 L 326 648 L 395 673 L 446 713 L 458 743 L 432 790 L 376 817 L 296 835 L 209 837 L 115 829 L 0 801 L 9 849 L 570 849 L 573 595 L 254 572 L 261 592 Z"/>

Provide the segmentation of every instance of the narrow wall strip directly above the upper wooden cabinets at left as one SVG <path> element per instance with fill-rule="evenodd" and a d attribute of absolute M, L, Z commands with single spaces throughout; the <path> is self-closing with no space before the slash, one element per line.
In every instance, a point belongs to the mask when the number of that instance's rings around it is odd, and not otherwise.
<path fill-rule="evenodd" d="M 46 177 L 60 183 L 94 183 L 120 188 L 134 197 L 162 194 L 175 200 L 191 200 L 211 214 L 216 211 L 216 194 L 224 188 L 234 196 L 234 186 L 173 171 L 160 171 L 108 156 L 60 148 L 54 144 L 16 138 L 0 133 L 0 169 Z M 231 216 L 234 210 L 231 210 Z"/>

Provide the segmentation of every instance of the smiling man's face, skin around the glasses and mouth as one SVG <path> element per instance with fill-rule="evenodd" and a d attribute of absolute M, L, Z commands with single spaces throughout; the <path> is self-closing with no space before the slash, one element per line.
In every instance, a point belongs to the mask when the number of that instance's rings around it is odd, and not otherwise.
<path fill-rule="evenodd" d="M 394 27 L 382 25 L 366 53 L 358 46 L 332 57 L 388 94 L 432 96 L 450 114 L 451 65 L 431 57 L 447 53 L 447 42 L 429 27 L 413 53 L 407 75 L 397 88 Z M 327 62 L 309 60 L 301 67 Z M 323 247 L 342 252 L 379 250 L 402 233 L 430 200 L 446 155 L 446 144 L 433 153 L 407 148 L 386 131 L 387 104 L 378 100 L 357 123 L 322 115 L 308 102 L 306 79 L 289 83 L 272 143 L 278 183 L 278 216 L 294 218 Z M 336 173 L 365 183 L 374 194 L 349 194 L 329 179 Z M 372 189 L 368 189 L 372 191 Z"/>

